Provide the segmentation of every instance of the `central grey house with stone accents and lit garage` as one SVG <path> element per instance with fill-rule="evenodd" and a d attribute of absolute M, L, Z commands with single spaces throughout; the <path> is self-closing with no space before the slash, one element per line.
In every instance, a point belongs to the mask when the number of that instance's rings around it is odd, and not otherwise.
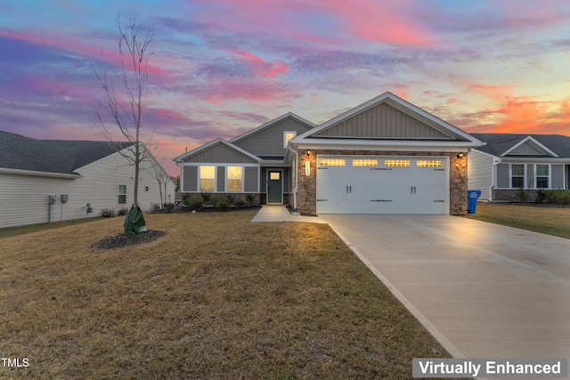
<path fill-rule="evenodd" d="M 181 190 L 300 214 L 465 214 L 469 150 L 483 142 L 383 93 L 322 125 L 288 113 L 175 162 Z"/>

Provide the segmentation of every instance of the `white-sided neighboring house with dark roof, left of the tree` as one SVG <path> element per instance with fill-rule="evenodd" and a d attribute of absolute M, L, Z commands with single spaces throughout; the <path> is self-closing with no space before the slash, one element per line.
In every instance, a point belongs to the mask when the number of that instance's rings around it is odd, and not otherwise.
<path fill-rule="evenodd" d="M 120 146 L 127 151 L 131 145 Z M 165 176 L 165 196 L 155 169 L 164 172 L 154 158 L 142 164 L 142 211 L 165 198 L 175 201 L 175 183 Z M 36 140 L 0 131 L 0 228 L 100 216 L 103 208 L 117 212 L 132 206 L 133 188 L 134 166 L 108 141 Z"/>

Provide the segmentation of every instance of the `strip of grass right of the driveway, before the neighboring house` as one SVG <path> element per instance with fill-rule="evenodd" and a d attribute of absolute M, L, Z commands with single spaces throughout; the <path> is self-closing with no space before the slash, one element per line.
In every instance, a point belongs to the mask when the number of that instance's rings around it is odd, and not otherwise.
<path fill-rule="evenodd" d="M 570 239 L 570 208 L 477 203 L 469 218 Z"/>

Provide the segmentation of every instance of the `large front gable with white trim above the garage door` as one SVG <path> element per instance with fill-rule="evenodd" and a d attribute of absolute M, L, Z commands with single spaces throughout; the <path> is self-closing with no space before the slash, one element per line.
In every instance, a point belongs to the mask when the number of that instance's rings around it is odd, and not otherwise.
<path fill-rule="evenodd" d="M 400 118 L 406 131 L 392 125 L 387 113 Z M 359 121 L 353 122 L 360 117 Z M 452 142 L 455 146 L 474 147 L 482 144 L 460 128 L 435 117 L 394 93 L 382 93 L 354 109 L 331 118 L 329 121 L 293 139 L 293 143 L 322 144 L 374 144 L 374 145 L 425 145 L 426 141 Z M 441 145 L 441 144 L 440 144 Z"/>

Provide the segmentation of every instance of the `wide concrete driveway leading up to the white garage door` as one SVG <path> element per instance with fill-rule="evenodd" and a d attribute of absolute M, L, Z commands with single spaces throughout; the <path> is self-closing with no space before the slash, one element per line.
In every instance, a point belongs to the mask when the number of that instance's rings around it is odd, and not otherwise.
<path fill-rule="evenodd" d="M 456 358 L 570 358 L 570 239 L 448 215 L 322 215 Z"/>

